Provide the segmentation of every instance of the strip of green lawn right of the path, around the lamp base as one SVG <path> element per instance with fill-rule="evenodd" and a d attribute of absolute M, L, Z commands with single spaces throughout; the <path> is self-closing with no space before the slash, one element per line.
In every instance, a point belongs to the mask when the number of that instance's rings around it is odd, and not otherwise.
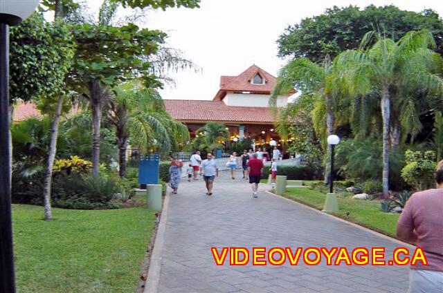
<path fill-rule="evenodd" d="M 289 188 L 284 196 L 320 210 L 325 203 L 325 194 L 313 189 Z M 381 211 L 378 200 L 338 198 L 338 207 L 340 211 L 334 213 L 334 216 L 395 237 L 395 227 L 400 215 Z"/>

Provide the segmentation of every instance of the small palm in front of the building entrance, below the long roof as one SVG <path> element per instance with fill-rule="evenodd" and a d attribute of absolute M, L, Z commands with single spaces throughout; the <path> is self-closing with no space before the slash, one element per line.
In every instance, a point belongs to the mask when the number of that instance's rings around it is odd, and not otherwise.
<path fill-rule="evenodd" d="M 208 122 L 203 127 L 197 129 L 197 137 L 194 144 L 198 144 L 199 149 L 210 149 L 215 153 L 216 149 L 224 148 L 228 139 L 229 131 L 224 124 Z"/>

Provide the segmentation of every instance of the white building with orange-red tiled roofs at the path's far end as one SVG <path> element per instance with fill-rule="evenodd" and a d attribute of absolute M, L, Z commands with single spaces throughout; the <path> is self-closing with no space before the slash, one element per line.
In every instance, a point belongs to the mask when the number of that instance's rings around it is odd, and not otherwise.
<path fill-rule="evenodd" d="M 208 121 L 223 123 L 231 138 L 250 138 L 256 145 L 278 140 L 274 131 L 274 117 L 269 109 L 271 91 L 276 77 L 253 65 L 237 76 L 221 76 L 220 88 L 213 100 L 165 100 L 168 113 L 185 123 L 191 137 Z M 288 98 L 278 97 L 277 106 L 283 107 Z"/>

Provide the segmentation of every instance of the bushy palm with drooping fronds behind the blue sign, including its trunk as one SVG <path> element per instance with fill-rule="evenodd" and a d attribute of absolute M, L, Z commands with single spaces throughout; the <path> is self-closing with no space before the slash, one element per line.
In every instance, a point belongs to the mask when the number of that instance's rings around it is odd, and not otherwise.
<path fill-rule="evenodd" d="M 114 126 L 118 141 L 119 175 L 125 177 L 129 139 L 141 150 L 158 144 L 163 153 L 176 147 L 177 140 L 189 140 L 188 127 L 165 111 L 161 96 L 152 88 L 128 83 L 116 88 L 109 100 L 108 122 Z"/>

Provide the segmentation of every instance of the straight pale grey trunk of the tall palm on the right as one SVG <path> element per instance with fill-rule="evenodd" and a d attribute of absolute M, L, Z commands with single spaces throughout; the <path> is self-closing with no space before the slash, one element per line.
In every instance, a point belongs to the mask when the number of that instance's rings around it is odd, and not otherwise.
<path fill-rule="evenodd" d="M 381 116 L 383 117 L 383 197 L 389 197 L 389 128 L 390 97 L 388 86 L 381 90 Z"/>

